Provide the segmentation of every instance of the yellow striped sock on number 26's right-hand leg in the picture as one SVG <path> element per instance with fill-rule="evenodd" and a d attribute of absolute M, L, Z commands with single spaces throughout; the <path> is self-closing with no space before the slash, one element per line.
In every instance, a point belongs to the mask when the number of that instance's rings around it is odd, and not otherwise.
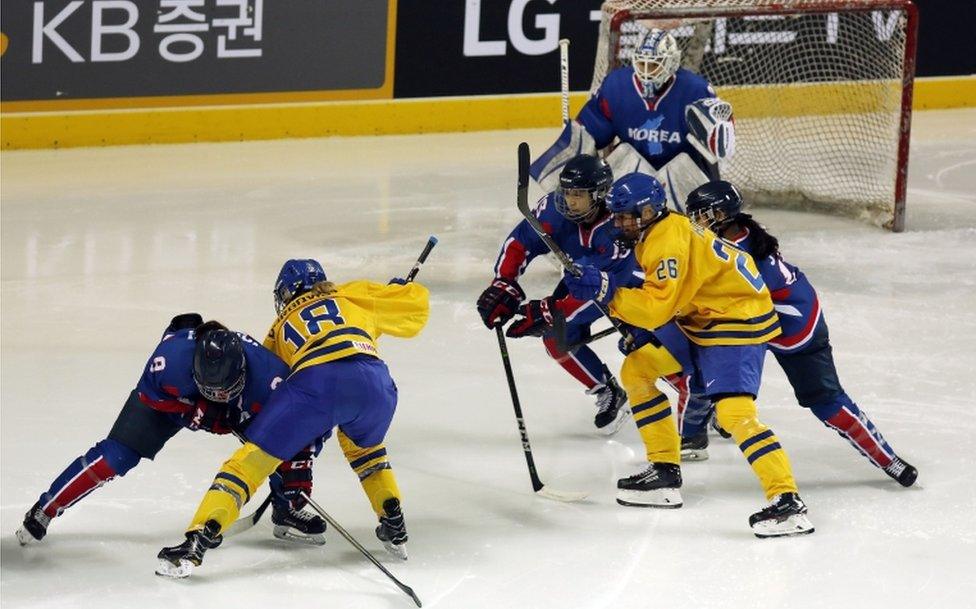
<path fill-rule="evenodd" d="M 793 469 L 773 430 L 759 420 L 756 403 L 749 396 L 735 396 L 715 404 L 718 424 L 728 430 L 742 455 L 759 477 L 766 499 L 797 492 Z"/>

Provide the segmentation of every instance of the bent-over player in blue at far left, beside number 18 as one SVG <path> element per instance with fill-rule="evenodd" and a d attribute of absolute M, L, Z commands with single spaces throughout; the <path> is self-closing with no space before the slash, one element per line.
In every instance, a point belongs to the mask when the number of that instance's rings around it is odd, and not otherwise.
<path fill-rule="evenodd" d="M 246 334 L 197 313 L 178 315 L 163 333 L 108 437 L 71 462 L 28 510 L 17 530 L 21 545 L 40 541 L 51 520 L 141 459 L 154 459 L 181 429 L 243 438 L 288 366 Z M 301 491 L 312 489 L 310 440 L 268 472 L 274 536 L 325 543 L 325 521 L 305 512 Z M 217 542 L 215 542 L 217 543 Z"/>

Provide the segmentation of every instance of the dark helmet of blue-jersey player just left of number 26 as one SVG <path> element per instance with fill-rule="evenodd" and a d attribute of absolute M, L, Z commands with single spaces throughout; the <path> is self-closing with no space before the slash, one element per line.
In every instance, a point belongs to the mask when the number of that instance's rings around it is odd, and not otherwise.
<path fill-rule="evenodd" d="M 589 222 L 606 204 L 611 184 L 613 171 L 606 161 L 592 154 L 575 156 L 559 172 L 556 210 L 567 220 Z"/>

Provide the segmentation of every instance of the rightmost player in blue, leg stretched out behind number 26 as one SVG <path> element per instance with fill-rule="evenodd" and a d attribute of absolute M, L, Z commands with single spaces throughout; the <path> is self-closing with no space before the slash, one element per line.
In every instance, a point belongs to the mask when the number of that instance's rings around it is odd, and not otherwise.
<path fill-rule="evenodd" d="M 687 209 L 693 221 L 710 228 L 755 259 L 783 329 L 783 334 L 767 346 L 786 373 L 800 406 L 846 438 L 899 484 L 914 484 L 918 470 L 895 454 L 867 413 L 858 408 L 841 386 L 827 322 L 813 286 L 800 269 L 783 260 L 776 238 L 752 216 L 742 212 L 742 196 L 735 186 L 726 181 L 700 186 L 689 195 Z M 692 405 L 690 409 L 696 407 L 700 405 Z M 696 420 L 697 425 L 685 423 L 684 437 L 706 434 L 700 421 L 707 420 L 707 416 L 699 413 Z"/>

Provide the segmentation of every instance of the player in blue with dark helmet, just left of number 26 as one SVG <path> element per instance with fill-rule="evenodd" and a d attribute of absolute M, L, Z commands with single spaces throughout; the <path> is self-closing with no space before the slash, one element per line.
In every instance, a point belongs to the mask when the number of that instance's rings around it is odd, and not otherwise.
<path fill-rule="evenodd" d="M 574 260 L 586 259 L 601 269 L 633 267 L 629 250 L 613 242 L 613 226 L 605 198 L 613 174 L 601 159 L 580 155 L 559 174 L 559 188 L 536 206 L 536 216 L 556 243 Z M 522 304 L 525 292 L 518 279 L 534 258 L 549 251 L 525 220 L 506 237 L 495 263 L 495 278 L 478 298 L 478 313 L 493 328 L 519 315 L 506 331 L 511 338 L 542 337 L 546 352 L 596 397 L 594 425 L 600 433 L 615 433 L 627 420 L 627 394 L 606 364 L 589 347 L 569 353 L 560 351 L 553 335 L 554 315 L 566 320 L 566 341 L 576 343 L 590 336 L 590 326 L 601 317 L 591 302 L 573 298 L 560 282 L 551 296 Z"/>

